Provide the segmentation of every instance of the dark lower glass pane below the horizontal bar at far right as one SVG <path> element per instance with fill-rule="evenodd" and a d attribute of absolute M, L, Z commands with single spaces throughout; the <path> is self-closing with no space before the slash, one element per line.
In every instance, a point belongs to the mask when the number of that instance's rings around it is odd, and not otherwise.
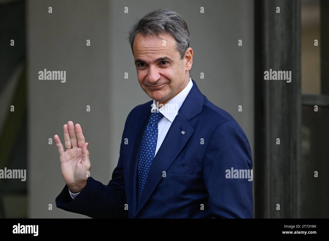
<path fill-rule="evenodd" d="M 329 108 L 302 107 L 301 217 L 329 217 Z M 315 171 L 318 177 L 315 177 Z"/>

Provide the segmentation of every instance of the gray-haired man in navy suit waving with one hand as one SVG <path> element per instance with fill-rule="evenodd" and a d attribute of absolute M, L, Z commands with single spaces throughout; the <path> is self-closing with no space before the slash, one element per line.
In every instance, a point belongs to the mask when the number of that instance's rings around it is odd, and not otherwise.
<path fill-rule="evenodd" d="M 249 142 L 190 78 L 185 21 L 168 9 L 151 11 L 132 27 L 129 42 L 139 84 L 152 100 L 129 113 L 108 185 L 89 176 L 81 126 L 63 126 L 66 151 L 54 139 L 66 185 L 56 206 L 93 218 L 253 218 L 252 179 L 228 174 L 252 169 Z"/>

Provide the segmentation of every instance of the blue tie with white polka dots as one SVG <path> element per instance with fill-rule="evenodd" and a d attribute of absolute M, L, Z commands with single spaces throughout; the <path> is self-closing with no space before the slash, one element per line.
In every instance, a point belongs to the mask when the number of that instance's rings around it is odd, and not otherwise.
<path fill-rule="evenodd" d="M 158 122 L 163 117 L 160 112 L 152 112 L 144 130 L 138 159 L 138 201 L 143 191 L 148 170 L 152 164 L 158 140 Z"/>

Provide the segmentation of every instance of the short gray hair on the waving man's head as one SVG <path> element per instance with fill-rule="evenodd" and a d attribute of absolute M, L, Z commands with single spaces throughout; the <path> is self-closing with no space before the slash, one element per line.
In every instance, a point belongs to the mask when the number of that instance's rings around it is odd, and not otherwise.
<path fill-rule="evenodd" d="M 170 34 L 176 40 L 176 50 L 181 59 L 184 58 L 186 50 L 190 47 L 190 33 L 186 22 L 177 12 L 170 9 L 150 11 L 131 27 L 127 39 L 133 55 L 134 39 L 138 33 L 144 37 L 147 35 L 159 37 L 160 33 Z"/>

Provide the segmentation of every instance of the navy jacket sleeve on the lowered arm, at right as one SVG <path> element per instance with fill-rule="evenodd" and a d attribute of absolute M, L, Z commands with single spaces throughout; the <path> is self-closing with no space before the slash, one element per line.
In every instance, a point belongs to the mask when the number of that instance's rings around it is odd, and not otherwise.
<path fill-rule="evenodd" d="M 251 170 L 250 145 L 239 124 L 234 120 L 218 124 L 208 143 L 203 164 L 203 180 L 213 218 L 253 218 Z M 245 174 L 244 178 L 241 178 L 242 174 Z"/>

